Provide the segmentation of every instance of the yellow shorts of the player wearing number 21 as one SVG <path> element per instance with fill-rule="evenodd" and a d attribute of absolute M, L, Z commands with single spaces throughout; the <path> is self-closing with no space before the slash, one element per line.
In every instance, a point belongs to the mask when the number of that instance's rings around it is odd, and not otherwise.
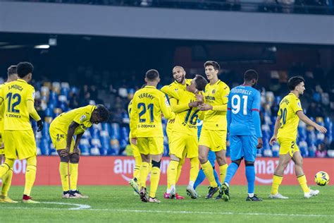
<path fill-rule="evenodd" d="M 140 154 L 161 155 L 163 153 L 163 137 L 138 137 L 137 146 Z"/>

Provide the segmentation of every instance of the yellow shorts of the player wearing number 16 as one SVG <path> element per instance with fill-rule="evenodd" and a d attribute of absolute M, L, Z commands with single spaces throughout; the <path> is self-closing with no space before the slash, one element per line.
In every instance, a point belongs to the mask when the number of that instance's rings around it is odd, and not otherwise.
<path fill-rule="evenodd" d="M 183 159 L 185 152 L 187 158 L 198 157 L 197 135 L 173 132 L 173 141 L 169 146 L 169 153 Z"/>

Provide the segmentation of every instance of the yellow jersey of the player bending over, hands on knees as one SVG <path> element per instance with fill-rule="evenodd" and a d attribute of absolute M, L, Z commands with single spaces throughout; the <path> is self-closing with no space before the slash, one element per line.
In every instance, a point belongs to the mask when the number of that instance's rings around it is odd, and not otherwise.
<path fill-rule="evenodd" d="M 54 121 L 51 122 L 50 128 L 56 128 L 57 130 L 62 131 L 67 135 L 70 123 L 72 123 L 72 121 L 75 121 L 79 124 L 79 126 L 75 128 L 74 135 L 83 133 L 87 128 L 92 126 L 90 117 L 92 116 L 92 112 L 94 111 L 94 109 L 96 109 L 96 106 L 87 105 L 85 107 L 80 107 L 78 109 L 63 112 L 59 116 L 57 116 Z"/>

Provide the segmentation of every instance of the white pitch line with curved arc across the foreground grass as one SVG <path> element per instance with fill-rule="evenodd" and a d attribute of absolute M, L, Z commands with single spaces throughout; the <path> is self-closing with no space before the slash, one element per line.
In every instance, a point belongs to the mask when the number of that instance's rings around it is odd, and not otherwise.
<path fill-rule="evenodd" d="M 47 202 L 44 202 L 47 203 Z M 262 216 L 278 216 L 278 217 L 334 217 L 334 215 L 304 215 L 304 214 L 280 214 L 280 213 L 247 213 L 247 212 L 193 212 L 193 211 L 173 211 L 173 210 L 130 210 L 130 209 L 92 209 L 89 205 L 70 204 L 70 203 L 53 203 L 58 205 L 76 205 L 72 208 L 58 207 L 1 207 L 1 209 L 27 209 L 27 210 L 82 210 L 97 212 L 140 212 L 140 213 L 166 213 L 166 214 L 199 214 L 199 215 L 262 215 Z"/>

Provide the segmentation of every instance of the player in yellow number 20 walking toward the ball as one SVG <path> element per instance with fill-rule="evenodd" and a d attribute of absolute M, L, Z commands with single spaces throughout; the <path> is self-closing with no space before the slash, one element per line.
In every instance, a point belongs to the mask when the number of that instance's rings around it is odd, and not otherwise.
<path fill-rule="evenodd" d="M 323 126 L 319 126 L 314 121 L 311 121 L 302 110 L 299 97 L 304 93 L 304 83 L 305 81 L 302 77 L 290 78 L 287 82 L 290 94 L 280 101 L 280 109 L 278 110 L 273 137 L 270 140 L 271 145 L 276 141 L 280 144 L 280 159 L 273 174 L 273 185 L 271 186 L 269 198 L 287 199 L 287 197 L 278 193 L 278 187 L 280 183 L 282 183 L 284 169 L 291 159 L 295 162 L 295 173 L 299 185 L 304 192 L 304 198 L 311 198 L 319 193 L 318 190 L 311 190 L 307 186 L 307 179 L 303 170 L 303 159 L 296 142 L 297 127 L 300 119 L 323 134 L 326 133 L 327 130 Z"/>

